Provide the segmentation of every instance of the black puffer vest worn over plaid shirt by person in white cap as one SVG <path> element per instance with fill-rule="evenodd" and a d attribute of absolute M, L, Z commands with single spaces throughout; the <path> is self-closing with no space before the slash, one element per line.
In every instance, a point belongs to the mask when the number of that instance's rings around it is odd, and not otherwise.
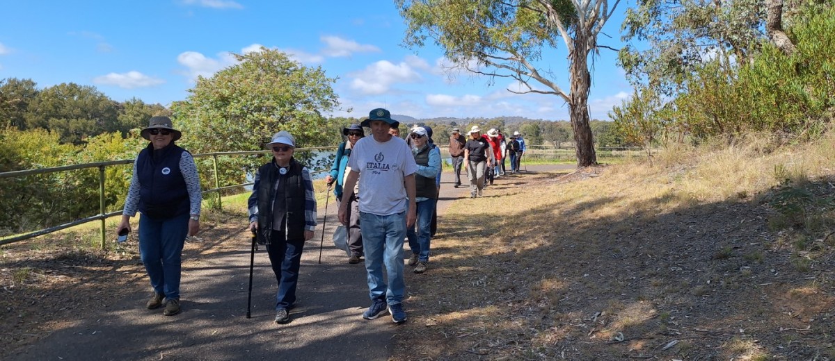
<path fill-rule="evenodd" d="M 260 180 L 258 183 L 258 237 L 262 243 L 271 238 L 273 228 L 272 210 L 284 208 L 287 226 L 286 239 L 299 240 L 305 238 L 305 186 L 301 177 L 301 164 L 296 159 L 290 159 L 290 166 L 286 174 L 278 172 L 276 161 L 266 163 L 258 168 Z M 281 178 L 283 197 L 276 197 L 276 182 Z M 281 207 L 281 206 L 284 207 Z M 281 225 L 279 225 L 281 228 Z"/>

